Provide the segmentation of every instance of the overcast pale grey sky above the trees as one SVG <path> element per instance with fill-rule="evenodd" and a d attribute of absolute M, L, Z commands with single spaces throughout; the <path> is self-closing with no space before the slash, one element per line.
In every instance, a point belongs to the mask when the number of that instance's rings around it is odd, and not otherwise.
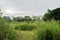
<path fill-rule="evenodd" d="M 0 8 L 6 16 L 44 15 L 47 9 L 60 7 L 60 0 L 0 0 Z"/>

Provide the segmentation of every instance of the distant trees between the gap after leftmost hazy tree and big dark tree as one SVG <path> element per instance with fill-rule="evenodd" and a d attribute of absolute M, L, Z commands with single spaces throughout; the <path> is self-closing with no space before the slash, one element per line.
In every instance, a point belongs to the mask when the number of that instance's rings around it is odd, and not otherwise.
<path fill-rule="evenodd" d="M 40 21 L 40 16 L 18 16 L 18 17 L 13 17 L 13 21 L 17 21 L 17 22 L 30 22 L 30 21 Z"/>

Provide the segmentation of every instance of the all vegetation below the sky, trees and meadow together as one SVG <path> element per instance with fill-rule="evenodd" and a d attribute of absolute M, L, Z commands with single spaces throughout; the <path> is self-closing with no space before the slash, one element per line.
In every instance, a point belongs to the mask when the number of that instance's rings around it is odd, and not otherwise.
<path fill-rule="evenodd" d="M 42 20 L 39 16 L 0 16 L 0 40 L 60 40 L 59 13 L 60 8 L 49 10 Z"/>

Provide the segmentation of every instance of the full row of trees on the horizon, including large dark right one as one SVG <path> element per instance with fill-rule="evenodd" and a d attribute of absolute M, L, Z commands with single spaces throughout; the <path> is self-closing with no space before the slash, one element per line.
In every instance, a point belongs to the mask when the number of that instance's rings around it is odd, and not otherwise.
<path fill-rule="evenodd" d="M 1 10 L 0 10 L 1 11 Z M 0 16 L 2 13 L 0 12 Z M 17 22 L 23 22 L 23 21 L 36 21 L 36 20 L 41 20 L 41 16 L 18 16 L 18 17 L 9 17 L 9 16 L 3 16 L 2 17 L 6 21 L 17 21 Z M 53 10 L 48 9 L 47 12 L 44 14 L 42 17 L 42 20 L 47 21 L 47 20 L 60 20 L 60 8 L 55 8 Z"/>

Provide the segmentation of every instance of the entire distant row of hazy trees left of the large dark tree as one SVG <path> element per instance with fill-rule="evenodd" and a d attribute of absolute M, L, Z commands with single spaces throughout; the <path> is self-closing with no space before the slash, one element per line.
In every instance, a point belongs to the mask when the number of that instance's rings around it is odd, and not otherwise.
<path fill-rule="evenodd" d="M 17 22 L 28 22 L 28 21 L 36 21 L 36 20 L 41 20 L 40 16 L 18 16 L 18 17 L 10 17 L 10 16 L 3 16 L 2 17 L 6 21 L 17 21 Z"/>

